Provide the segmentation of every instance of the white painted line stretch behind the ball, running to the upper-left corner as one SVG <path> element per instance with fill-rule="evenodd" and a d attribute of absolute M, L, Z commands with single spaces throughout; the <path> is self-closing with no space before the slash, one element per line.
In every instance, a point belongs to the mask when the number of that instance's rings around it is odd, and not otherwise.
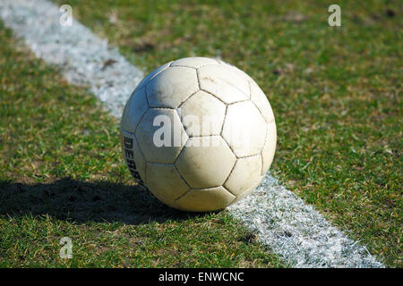
<path fill-rule="evenodd" d="M 79 22 L 62 26 L 58 7 L 44 0 L 1 0 L 4 24 L 46 63 L 60 67 L 75 85 L 90 87 L 116 117 L 144 74 L 128 63 L 107 39 L 93 35 Z M 105 65 L 108 60 L 116 63 Z"/>

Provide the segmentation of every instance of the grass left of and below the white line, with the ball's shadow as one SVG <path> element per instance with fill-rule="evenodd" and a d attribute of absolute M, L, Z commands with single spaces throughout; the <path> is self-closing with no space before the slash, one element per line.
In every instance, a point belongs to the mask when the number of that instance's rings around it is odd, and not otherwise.
<path fill-rule="evenodd" d="M 227 214 L 176 212 L 133 186 L 116 119 L 3 26 L 0 39 L 0 266 L 284 265 Z"/>

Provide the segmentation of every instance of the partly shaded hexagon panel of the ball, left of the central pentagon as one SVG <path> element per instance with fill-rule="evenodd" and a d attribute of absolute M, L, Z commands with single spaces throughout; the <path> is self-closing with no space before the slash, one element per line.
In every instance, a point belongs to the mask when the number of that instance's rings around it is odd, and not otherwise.
<path fill-rule="evenodd" d="M 188 139 L 179 115 L 173 109 L 150 108 L 135 135 L 142 154 L 150 163 L 174 163 Z"/>

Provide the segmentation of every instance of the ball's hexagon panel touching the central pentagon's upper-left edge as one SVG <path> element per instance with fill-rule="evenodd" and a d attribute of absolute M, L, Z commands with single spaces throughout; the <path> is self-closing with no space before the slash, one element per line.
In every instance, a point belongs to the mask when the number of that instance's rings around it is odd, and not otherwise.
<path fill-rule="evenodd" d="M 199 90 L 196 71 L 187 67 L 170 67 L 147 85 L 150 107 L 176 108 Z"/>

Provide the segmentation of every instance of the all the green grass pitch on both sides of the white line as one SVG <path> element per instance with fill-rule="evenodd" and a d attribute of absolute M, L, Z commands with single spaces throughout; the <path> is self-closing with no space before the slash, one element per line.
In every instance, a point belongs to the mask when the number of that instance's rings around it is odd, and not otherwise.
<path fill-rule="evenodd" d="M 398 1 L 340 1 L 338 28 L 317 1 L 56 3 L 144 71 L 201 55 L 249 73 L 276 116 L 275 177 L 402 266 Z M 4 27 L 0 39 L 0 265 L 286 266 L 225 212 L 181 214 L 134 191 L 116 120 Z"/>

